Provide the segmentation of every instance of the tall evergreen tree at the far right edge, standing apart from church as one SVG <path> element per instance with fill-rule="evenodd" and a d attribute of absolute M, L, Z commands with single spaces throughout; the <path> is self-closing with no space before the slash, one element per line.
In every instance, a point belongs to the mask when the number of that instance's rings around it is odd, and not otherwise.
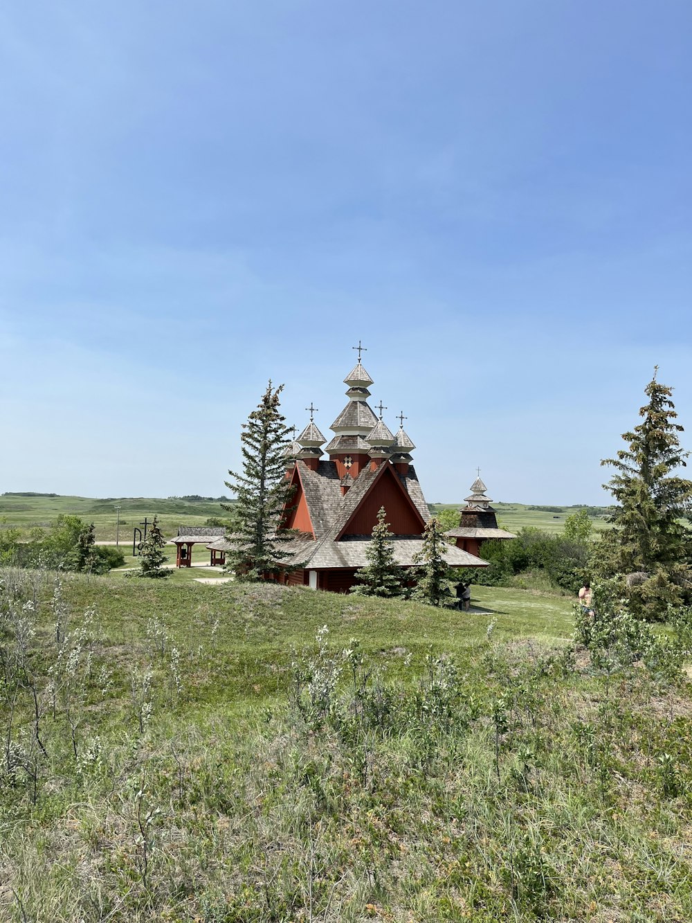
<path fill-rule="evenodd" d="M 594 569 L 604 576 L 622 574 L 630 608 L 642 617 L 662 618 L 669 603 L 679 605 L 689 585 L 690 533 L 680 521 L 689 514 L 692 481 L 675 472 L 686 466 L 680 448 L 672 389 L 653 378 L 639 410 L 642 422 L 623 434 L 626 449 L 604 459 L 615 473 L 603 485 L 616 501 L 609 520 L 615 529 L 603 533 L 594 555 Z"/>

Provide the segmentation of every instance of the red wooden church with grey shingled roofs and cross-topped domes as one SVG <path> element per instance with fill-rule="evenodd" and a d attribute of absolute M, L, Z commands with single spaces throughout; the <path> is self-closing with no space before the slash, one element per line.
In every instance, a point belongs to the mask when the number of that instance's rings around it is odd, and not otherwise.
<path fill-rule="evenodd" d="M 385 508 L 394 533 L 401 568 L 413 566 L 430 518 L 412 466 L 415 446 L 404 432 L 405 417 L 400 415 L 399 431 L 392 435 L 382 420 L 386 410 L 382 403 L 377 408 L 379 418 L 370 409 L 367 398 L 373 379 L 362 366 L 358 349 L 358 363 L 344 378 L 349 401 L 331 425 L 334 438 L 326 450 L 311 405 L 309 424 L 286 451 L 286 477 L 294 490 L 282 525 L 298 534 L 284 545 L 292 557 L 278 563 L 304 566 L 284 572 L 282 579 L 334 593 L 346 593 L 355 582 L 355 571 L 368 563 L 365 551 L 380 507 Z M 323 458 L 325 451 L 328 460 Z M 486 566 L 455 545 L 447 546 L 446 557 L 452 567 Z"/>

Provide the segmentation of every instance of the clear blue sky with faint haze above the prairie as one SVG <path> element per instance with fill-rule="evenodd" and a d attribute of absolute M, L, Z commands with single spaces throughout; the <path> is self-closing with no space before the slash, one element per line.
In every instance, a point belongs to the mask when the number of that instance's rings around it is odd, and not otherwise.
<path fill-rule="evenodd" d="M 0 9 L 0 492 L 225 491 L 352 345 L 430 501 L 603 502 L 692 447 L 688 0 Z"/>

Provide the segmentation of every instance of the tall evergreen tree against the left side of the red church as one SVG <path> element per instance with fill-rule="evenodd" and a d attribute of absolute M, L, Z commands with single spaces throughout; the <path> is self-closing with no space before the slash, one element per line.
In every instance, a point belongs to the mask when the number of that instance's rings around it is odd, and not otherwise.
<path fill-rule="evenodd" d="M 271 380 L 257 409 L 243 424 L 241 433 L 243 471 L 229 471 L 225 484 L 236 496 L 233 505 L 235 528 L 229 536 L 233 547 L 226 553 L 226 567 L 239 580 L 257 581 L 264 574 L 278 574 L 285 565 L 278 558 L 292 557 L 285 545 L 293 537 L 280 526 L 281 510 L 288 503 L 292 487 L 285 479 L 284 451 L 290 443 L 291 427 L 280 413 L 283 385 L 273 388 Z"/>

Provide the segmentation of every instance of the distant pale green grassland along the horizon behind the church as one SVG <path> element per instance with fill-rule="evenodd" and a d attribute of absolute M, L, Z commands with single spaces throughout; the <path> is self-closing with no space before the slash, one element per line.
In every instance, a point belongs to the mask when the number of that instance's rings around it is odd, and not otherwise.
<path fill-rule="evenodd" d="M 225 513 L 218 500 L 162 499 L 155 497 L 125 497 L 122 499 L 92 499 L 89 497 L 23 497 L 15 494 L 0 496 L 0 522 L 6 527 L 16 527 L 23 535 L 36 526 L 45 528 L 60 513 L 74 513 L 84 521 L 96 525 L 97 541 L 115 540 L 115 507 L 120 506 L 121 544 L 132 544 L 132 531 L 144 517 L 151 521 L 159 517 L 163 533 L 170 537 L 180 525 L 203 525 L 212 516 L 223 518 Z M 437 504 L 433 509 L 459 509 L 461 503 Z M 524 526 L 534 526 L 549 533 L 561 533 L 565 519 L 574 509 L 561 508 L 560 512 L 529 509 L 521 503 L 495 503 L 501 525 L 510 532 Z M 605 528 L 602 519 L 592 520 L 594 529 Z"/>

